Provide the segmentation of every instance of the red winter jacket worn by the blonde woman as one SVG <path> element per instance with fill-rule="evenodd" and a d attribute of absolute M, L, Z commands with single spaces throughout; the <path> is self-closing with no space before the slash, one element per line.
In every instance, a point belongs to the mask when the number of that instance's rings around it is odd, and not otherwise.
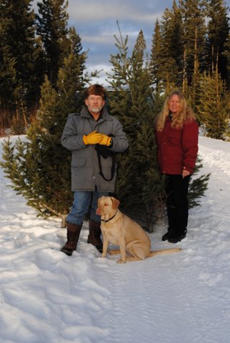
<path fill-rule="evenodd" d="M 186 121 L 181 129 L 174 129 L 170 118 L 166 119 L 163 131 L 156 131 L 157 159 L 161 173 L 182 174 L 183 169 L 194 172 L 198 131 L 196 121 Z"/>

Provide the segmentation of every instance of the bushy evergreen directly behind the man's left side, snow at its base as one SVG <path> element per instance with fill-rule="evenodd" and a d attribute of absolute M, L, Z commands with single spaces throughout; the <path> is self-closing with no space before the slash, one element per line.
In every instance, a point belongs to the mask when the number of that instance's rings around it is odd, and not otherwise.
<path fill-rule="evenodd" d="M 74 35 L 75 37 L 77 35 Z M 74 94 L 89 81 L 84 78 L 86 54 L 72 41 L 69 58 L 59 71 L 57 89 L 46 78 L 41 87 L 40 108 L 27 132 L 27 141 L 4 144 L 1 163 L 13 188 L 41 216 L 64 219 L 72 203 L 70 187 L 71 154 L 61 146 L 61 134 L 67 115 L 75 111 Z"/>

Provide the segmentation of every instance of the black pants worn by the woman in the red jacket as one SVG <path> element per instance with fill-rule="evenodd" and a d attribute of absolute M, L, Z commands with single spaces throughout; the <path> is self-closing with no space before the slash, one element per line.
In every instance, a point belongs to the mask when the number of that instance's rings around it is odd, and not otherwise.
<path fill-rule="evenodd" d="M 181 175 L 166 175 L 166 208 L 169 220 L 169 231 L 175 234 L 186 232 L 188 224 L 188 177 L 182 178 Z"/>

